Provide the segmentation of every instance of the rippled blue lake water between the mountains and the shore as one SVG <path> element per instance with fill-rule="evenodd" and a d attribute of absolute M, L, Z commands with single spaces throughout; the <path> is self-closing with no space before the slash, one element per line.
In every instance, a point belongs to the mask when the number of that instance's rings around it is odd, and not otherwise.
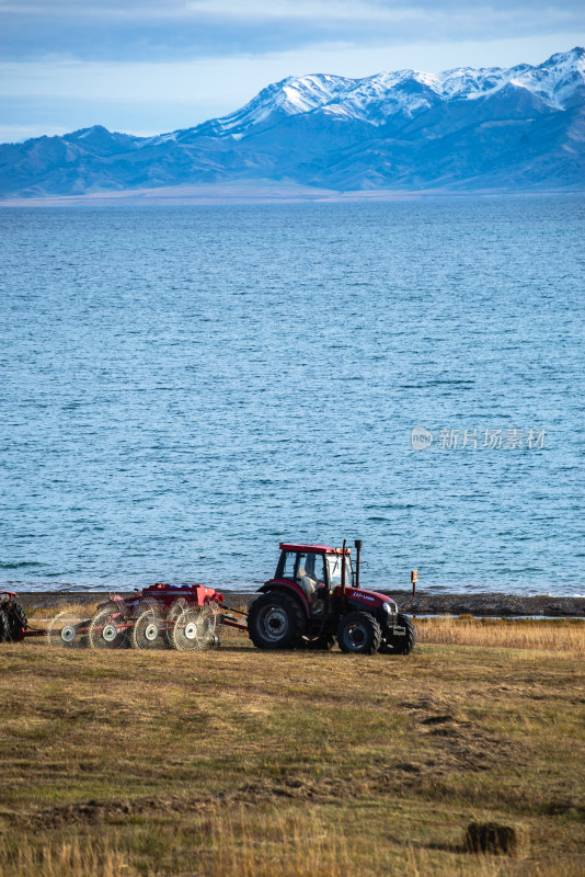
<path fill-rule="evenodd" d="M 252 589 L 357 536 L 365 586 L 585 593 L 583 218 L 0 210 L 0 582 Z"/>

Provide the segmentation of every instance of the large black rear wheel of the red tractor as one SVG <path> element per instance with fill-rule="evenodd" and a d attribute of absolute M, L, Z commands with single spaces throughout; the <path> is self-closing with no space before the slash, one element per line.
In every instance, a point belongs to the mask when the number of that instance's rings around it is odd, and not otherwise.
<path fill-rule="evenodd" d="M 306 626 L 300 604 L 278 591 L 262 594 L 248 613 L 248 634 L 257 649 L 294 649 Z"/>

